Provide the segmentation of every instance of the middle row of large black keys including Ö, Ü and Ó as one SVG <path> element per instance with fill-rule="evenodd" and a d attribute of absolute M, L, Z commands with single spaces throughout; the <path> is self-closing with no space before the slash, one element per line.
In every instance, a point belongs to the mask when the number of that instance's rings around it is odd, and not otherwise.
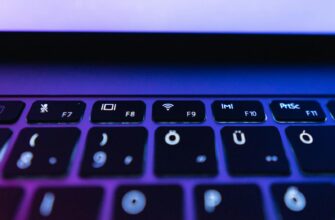
<path fill-rule="evenodd" d="M 289 126 L 285 129 L 301 170 L 334 174 L 335 126 Z M 11 132 L 0 129 L 3 148 Z M 25 128 L 10 152 L 5 178 L 59 177 L 68 173 L 80 130 Z M 221 129 L 226 165 L 232 176 L 289 175 L 289 161 L 280 133 L 271 126 L 227 126 Z M 80 175 L 140 176 L 145 165 L 148 131 L 144 127 L 91 128 Z M 158 177 L 216 176 L 214 131 L 206 126 L 164 126 L 155 131 L 154 173 Z"/>

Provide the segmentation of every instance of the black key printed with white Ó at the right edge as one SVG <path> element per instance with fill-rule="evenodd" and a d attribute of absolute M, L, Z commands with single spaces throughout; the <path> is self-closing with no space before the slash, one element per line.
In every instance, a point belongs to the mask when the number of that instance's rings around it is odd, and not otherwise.
<path fill-rule="evenodd" d="M 335 126 L 290 126 L 286 135 L 303 171 L 335 172 Z"/>

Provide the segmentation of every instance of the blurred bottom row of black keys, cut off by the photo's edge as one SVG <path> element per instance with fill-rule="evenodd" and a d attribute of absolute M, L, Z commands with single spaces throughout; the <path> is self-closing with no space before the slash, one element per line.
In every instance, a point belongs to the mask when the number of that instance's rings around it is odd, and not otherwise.
<path fill-rule="evenodd" d="M 273 184 L 271 193 L 278 219 L 335 217 L 335 187 L 329 183 Z M 0 187 L 1 219 L 15 217 L 23 195 L 19 187 Z M 34 193 L 27 219 L 99 219 L 103 195 L 98 186 L 41 187 Z M 193 202 L 184 201 L 183 189 L 175 184 L 121 185 L 114 195 L 115 220 L 182 220 L 184 205 Z M 265 219 L 261 190 L 254 184 L 197 185 L 193 196 L 198 220 Z"/>

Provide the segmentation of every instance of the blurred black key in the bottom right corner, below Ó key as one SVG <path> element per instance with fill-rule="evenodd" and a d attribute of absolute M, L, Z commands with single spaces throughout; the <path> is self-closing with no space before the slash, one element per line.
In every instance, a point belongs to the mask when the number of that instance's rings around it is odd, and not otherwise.
<path fill-rule="evenodd" d="M 335 188 L 331 184 L 275 184 L 272 193 L 280 219 L 335 219 Z"/>

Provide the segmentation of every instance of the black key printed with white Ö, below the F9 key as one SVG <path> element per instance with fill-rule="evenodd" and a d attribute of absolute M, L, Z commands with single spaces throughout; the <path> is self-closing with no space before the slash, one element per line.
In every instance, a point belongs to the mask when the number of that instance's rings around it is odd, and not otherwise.
<path fill-rule="evenodd" d="M 155 173 L 216 175 L 214 133 L 210 127 L 160 127 L 155 133 Z"/>

